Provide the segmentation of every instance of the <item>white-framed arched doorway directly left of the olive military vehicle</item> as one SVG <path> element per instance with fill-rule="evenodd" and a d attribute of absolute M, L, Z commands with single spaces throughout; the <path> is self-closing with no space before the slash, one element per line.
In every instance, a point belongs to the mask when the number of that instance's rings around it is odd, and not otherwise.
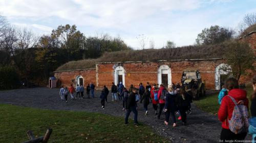
<path fill-rule="evenodd" d="M 170 67 L 167 65 L 162 65 L 158 69 L 158 84 L 163 84 L 164 87 L 168 88 L 172 85 L 172 76 Z"/>

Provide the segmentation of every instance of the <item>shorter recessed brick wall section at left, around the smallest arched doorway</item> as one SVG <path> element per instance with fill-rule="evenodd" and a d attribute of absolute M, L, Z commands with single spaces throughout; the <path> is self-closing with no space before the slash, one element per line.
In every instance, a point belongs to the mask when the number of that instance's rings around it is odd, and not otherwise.
<path fill-rule="evenodd" d="M 69 87 L 70 84 L 74 84 L 76 82 L 76 77 L 81 75 L 83 77 L 84 85 L 87 85 L 90 82 L 96 84 L 96 72 L 95 69 L 87 69 L 87 70 L 75 70 L 75 71 L 61 71 L 55 72 L 54 76 L 61 82 L 61 85 Z M 72 82 L 72 79 L 74 82 Z"/>

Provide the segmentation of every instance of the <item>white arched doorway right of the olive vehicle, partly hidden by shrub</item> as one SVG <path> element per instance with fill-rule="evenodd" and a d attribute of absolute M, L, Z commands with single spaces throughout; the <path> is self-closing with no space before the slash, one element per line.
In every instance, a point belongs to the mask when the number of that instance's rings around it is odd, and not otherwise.
<path fill-rule="evenodd" d="M 222 85 L 224 85 L 224 82 L 226 78 L 229 76 L 229 73 L 231 73 L 232 69 L 227 64 L 220 64 L 215 69 L 215 89 L 221 90 Z"/>

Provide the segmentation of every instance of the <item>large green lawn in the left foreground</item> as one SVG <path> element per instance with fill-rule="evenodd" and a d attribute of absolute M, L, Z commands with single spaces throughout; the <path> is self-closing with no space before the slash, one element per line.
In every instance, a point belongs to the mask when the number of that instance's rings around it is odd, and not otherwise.
<path fill-rule="evenodd" d="M 50 127 L 49 142 L 167 142 L 145 125 L 130 120 L 83 111 L 44 110 L 0 104 L 0 142 L 28 140 L 26 131 L 43 136 Z"/>

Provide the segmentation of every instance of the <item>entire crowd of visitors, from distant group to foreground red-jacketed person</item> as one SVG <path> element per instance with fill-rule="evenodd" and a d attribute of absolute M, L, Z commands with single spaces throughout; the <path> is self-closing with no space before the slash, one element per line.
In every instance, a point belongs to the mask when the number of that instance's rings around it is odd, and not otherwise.
<path fill-rule="evenodd" d="M 249 100 L 247 99 L 247 93 L 245 90 L 239 88 L 239 83 L 236 78 L 228 78 L 219 93 L 218 102 L 220 108 L 218 111 L 219 120 L 222 122 L 222 131 L 220 139 L 222 142 L 230 142 L 234 140 L 243 141 L 249 132 L 252 134 L 252 142 L 256 140 L 256 76 L 252 78 L 253 94 L 250 97 L 251 100 L 251 118 L 249 118 L 248 108 Z M 95 85 L 93 83 L 88 84 L 86 87 L 86 93 L 88 98 L 90 94 L 94 98 Z M 71 99 L 82 99 L 84 87 L 83 85 L 77 85 L 76 88 L 71 86 L 69 89 L 61 88 L 60 97 L 67 102 L 67 96 L 70 94 Z M 105 108 L 105 102 L 108 102 L 109 89 L 104 85 L 101 94 L 101 107 Z M 76 93 L 76 98 L 74 94 Z M 139 88 L 135 88 L 133 84 L 130 89 L 127 90 L 122 82 L 115 85 L 112 82 L 111 87 L 112 101 L 122 101 L 122 109 L 126 111 L 124 123 L 128 124 L 128 119 L 131 112 L 134 113 L 134 124 L 138 126 L 138 102 L 143 103 L 145 110 L 145 116 L 148 115 L 148 105 L 152 102 L 154 114 L 160 119 L 162 112 L 165 113 L 164 124 L 169 124 L 169 118 L 172 117 L 173 126 L 176 126 L 176 114 L 179 115 L 178 120 L 182 121 L 182 125 L 186 125 L 187 113 L 191 113 L 192 97 L 189 89 L 181 88 L 180 84 L 172 84 L 172 86 L 165 88 L 163 84 L 160 84 L 159 88 L 156 83 L 150 85 L 147 82 L 146 87 L 142 83 L 139 84 Z"/>

